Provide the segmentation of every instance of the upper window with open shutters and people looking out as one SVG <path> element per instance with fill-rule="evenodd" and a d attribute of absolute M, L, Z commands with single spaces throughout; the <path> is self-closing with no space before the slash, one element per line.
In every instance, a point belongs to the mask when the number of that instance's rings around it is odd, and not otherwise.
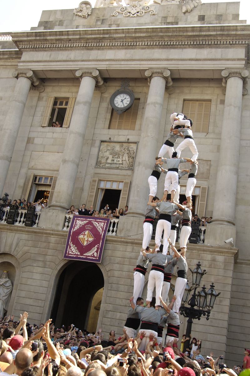
<path fill-rule="evenodd" d="M 58 121 L 61 127 L 69 127 L 74 104 L 75 97 L 49 97 L 41 126 L 51 127 L 53 121 Z"/>

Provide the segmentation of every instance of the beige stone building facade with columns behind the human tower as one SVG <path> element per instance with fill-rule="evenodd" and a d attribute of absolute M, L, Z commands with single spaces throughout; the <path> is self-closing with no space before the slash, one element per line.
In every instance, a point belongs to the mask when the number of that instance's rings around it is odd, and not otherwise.
<path fill-rule="evenodd" d="M 195 119 L 195 211 L 213 217 L 205 244 L 189 244 L 187 261 L 192 269 L 200 260 L 204 283 L 221 291 L 210 320 L 195 323 L 192 336 L 203 341 L 203 354 L 213 350 L 239 364 L 249 347 L 250 27 L 239 20 L 239 2 L 83 3 L 87 11 L 44 11 L 37 27 L 1 36 L 1 193 L 34 200 L 38 190 L 49 191 L 50 206 L 36 228 L 0 224 L 0 267 L 14 285 L 8 314 L 27 310 L 31 322 L 52 315 L 58 325 L 70 318 L 87 326 L 92 298 L 104 288 L 98 326 L 121 332 L 147 179 L 177 109 Z M 135 102 L 119 120 L 110 97 L 125 86 Z M 54 128 L 57 114 L 62 127 Z M 129 212 L 107 236 L 102 262 L 63 259 L 65 210 L 83 202 L 99 209 L 108 189 Z M 224 243 L 229 238 L 233 246 Z"/>

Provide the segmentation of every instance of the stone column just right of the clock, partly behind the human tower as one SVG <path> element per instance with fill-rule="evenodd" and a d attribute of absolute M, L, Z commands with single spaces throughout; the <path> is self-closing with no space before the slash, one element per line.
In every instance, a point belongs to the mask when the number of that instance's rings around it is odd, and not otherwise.
<path fill-rule="evenodd" d="M 121 236 L 131 233 L 131 231 L 129 232 L 129 217 L 133 217 L 133 231 L 136 233 L 136 219 L 134 217 L 137 217 L 141 224 L 142 218 L 145 215 L 149 194 L 148 177 L 152 172 L 155 157 L 159 152 L 157 149 L 159 147 L 158 135 L 160 132 L 165 88 L 166 86 L 172 85 L 170 71 L 168 69 L 149 69 L 145 72 L 145 75 L 148 77 L 150 87 L 140 142 L 136 153 L 133 181 L 130 187 L 128 214 L 125 220 L 122 220 L 122 222 L 124 222 L 123 230 L 122 226 L 120 226 L 121 223 L 119 223 L 117 230 L 117 235 Z M 120 218 L 123 219 L 123 217 Z"/>

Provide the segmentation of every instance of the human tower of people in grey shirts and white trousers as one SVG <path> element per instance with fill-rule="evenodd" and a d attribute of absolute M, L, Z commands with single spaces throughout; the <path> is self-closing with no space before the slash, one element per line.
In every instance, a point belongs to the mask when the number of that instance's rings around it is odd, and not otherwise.
<path fill-rule="evenodd" d="M 131 308 L 124 329 L 127 335 L 134 338 L 140 326 L 141 337 L 140 350 L 145 350 L 149 338 L 157 338 L 157 343 L 162 344 L 163 329 L 168 324 L 166 343 L 178 338 L 180 329 L 179 309 L 181 299 L 187 283 L 186 249 L 187 240 L 191 234 L 192 218 L 192 191 L 196 184 L 195 176 L 198 168 L 198 151 L 195 146 L 191 127 L 193 122 L 185 115 L 174 112 L 170 115 L 171 128 L 168 137 L 155 158 L 154 168 L 148 178 L 149 200 L 145 211 L 143 223 L 143 241 L 137 265 L 134 269 L 134 292 L 130 299 Z M 177 138 L 184 138 L 176 150 L 174 144 Z M 181 151 L 189 147 L 192 158 L 180 158 Z M 168 153 L 169 158 L 163 158 Z M 189 162 L 191 167 L 187 170 L 179 170 L 181 163 Z M 163 164 L 167 170 L 163 169 Z M 162 199 L 156 197 L 157 183 L 161 173 L 166 174 L 164 194 Z M 180 178 L 188 174 L 186 185 L 186 205 L 179 203 Z M 155 211 L 159 213 L 155 231 L 155 247 L 149 248 L 152 236 Z M 175 248 L 176 228 L 181 219 L 180 249 Z M 162 233 L 163 244 L 162 244 Z M 168 247 L 170 249 L 168 250 Z M 145 274 L 152 263 L 148 277 L 148 291 L 146 302 L 143 302 L 142 292 L 145 282 Z M 174 297 L 167 305 L 171 276 L 174 267 L 177 267 L 177 279 L 175 282 Z M 152 297 L 155 288 L 155 298 Z M 168 314 L 168 315 L 166 315 Z M 164 345 L 164 341 L 163 341 Z"/>

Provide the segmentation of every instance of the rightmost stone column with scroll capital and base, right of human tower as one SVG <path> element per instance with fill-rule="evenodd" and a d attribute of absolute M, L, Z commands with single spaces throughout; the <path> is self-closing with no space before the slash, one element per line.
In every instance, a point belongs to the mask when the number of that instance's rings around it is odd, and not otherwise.
<path fill-rule="evenodd" d="M 248 71 L 244 69 L 224 70 L 221 74 L 223 86 L 226 86 L 226 97 L 221 126 L 213 220 L 207 226 L 205 243 L 224 246 L 225 240 L 233 238 L 235 244 L 236 239 L 234 220 L 241 138 L 242 94 L 247 94 L 245 85 L 247 84 Z"/>

